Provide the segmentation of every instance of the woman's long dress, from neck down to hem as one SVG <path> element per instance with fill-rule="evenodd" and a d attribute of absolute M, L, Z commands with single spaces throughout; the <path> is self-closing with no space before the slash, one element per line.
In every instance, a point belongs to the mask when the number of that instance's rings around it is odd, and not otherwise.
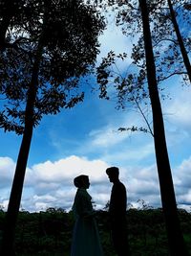
<path fill-rule="evenodd" d="M 91 199 L 86 189 L 77 189 L 71 256 L 103 256 Z"/>

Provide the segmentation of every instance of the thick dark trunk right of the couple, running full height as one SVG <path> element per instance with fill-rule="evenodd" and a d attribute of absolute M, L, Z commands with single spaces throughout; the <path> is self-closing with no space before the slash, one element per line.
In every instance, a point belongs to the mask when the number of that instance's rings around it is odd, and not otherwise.
<path fill-rule="evenodd" d="M 161 203 L 171 256 L 188 256 L 180 230 L 173 179 L 166 147 L 165 131 L 159 100 L 156 66 L 149 25 L 146 0 L 138 0 L 142 17 L 144 48 L 147 67 L 147 81 L 153 112 L 154 143 L 157 158 Z"/>

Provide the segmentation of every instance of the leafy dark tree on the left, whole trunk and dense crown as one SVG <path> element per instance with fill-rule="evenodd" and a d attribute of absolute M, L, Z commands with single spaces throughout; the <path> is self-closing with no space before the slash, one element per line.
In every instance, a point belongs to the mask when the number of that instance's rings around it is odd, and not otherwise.
<path fill-rule="evenodd" d="M 19 128 L 12 129 L 23 133 L 3 233 L 4 256 L 14 255 L 33 128 L 44 114 L 56 114 L 61 107 L 83 101 L 80 78 L 92 71 L 97 36 L 104 29 L 100 15 L 82 1 L 31 0 L 20 8 L 25 12 L 21 12 L 19 24 L 7 26 L 4 35 L 9 45 L 0 56 L 0 92 L 5 96 L 1 126 L 11 120 Z"/>

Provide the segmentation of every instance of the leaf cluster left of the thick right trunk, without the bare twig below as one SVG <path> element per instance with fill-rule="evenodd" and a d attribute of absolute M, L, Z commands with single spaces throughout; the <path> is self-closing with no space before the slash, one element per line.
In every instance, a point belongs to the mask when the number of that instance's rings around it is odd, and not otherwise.
<path fill-rule="evenodd" d="M 116 55 L 113 51 L 110 51 L 107 57 L 102 58 L 101 63 L 96 68 L 100 98 L 109 100 L 109 86 L 114 87 L 117 90 L 117 106 L 122 108 L 125 107 L 126 103 L 139 103 L 142 99 L 148 97 L 143 87 L 145 73 L 142 69 L 137 74 L 135 67 L 133 70 L 129 65 L 127 73 L 120 72 L 118 63 L 121 64 L 125 60 L 127 61 L 127 58 L 126 53 Z"/>

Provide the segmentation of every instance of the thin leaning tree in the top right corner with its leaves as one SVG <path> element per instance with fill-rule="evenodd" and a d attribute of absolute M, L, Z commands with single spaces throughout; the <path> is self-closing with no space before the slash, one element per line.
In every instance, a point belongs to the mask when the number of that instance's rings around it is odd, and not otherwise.
<path fill-rule="evenodd" d="M 185 81 L 189 80 L 188 54 L 191 51 L 189 38 L 191 19 L 188 2 L 174 0 L 173 6 L 176 12 L 172 9 L 172 5 L 170 6 L 172 1 L 168 3 L 169 6 L 163 0 L 147 2 L 158 82 L 174 75 L 180 75 Z M 144 68 L 144 44 L 138 1 L 117 1 L 117 3 L 120 3 L 117 11 L 117 25 L 121 27 L 124 35 L 136 37 L 132 58 L 139 68 Z"/>

